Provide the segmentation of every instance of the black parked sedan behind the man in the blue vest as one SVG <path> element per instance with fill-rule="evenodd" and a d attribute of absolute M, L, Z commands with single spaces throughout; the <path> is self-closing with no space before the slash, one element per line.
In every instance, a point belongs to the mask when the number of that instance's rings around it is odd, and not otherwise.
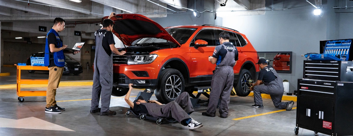
<path fill-rule="evenodd" d="M 44 57 L 44 52 L 39 52 L 39 53 L 34 53 L 32 54 L 29 58 L 27 58 L 27 63 L 26 65 L 31 65 L 31 57 Z M 79 75 L 80 73 L 83 72 L 82 65 L 78 61 L 70 58 L 65 54 L 65 66 L 64 66 L 64 72 L 62 72 L 63 75 L 67 75 L 70 73 L 73 73 L 73 75 Z M 40 71 L 40 70 L 28 70 L 30 73 L 34 73 L 35 71 Z M 48 71 L 46 71 L 48 72 Z"/>

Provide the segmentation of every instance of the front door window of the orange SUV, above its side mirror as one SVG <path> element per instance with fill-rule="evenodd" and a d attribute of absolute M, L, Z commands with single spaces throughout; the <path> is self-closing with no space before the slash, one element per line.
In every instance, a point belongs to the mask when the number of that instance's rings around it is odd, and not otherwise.
<path fill-rule="evenodd" d="M 213 29 L 204 29 L 201 30 L 190 43 L 190 46 L 195 46 L 196 40 L 204 40 L 208 43 L 207 46 L 216 46 L 216 41 L 219 42 L 215 37 L 215 31 Z"/>

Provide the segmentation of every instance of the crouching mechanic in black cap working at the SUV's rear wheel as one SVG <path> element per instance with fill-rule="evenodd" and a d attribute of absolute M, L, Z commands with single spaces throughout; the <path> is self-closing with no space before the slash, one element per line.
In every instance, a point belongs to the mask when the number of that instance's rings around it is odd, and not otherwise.
<path fill-rule="evenodd" d="M 252 107 L 263 108 L 261 94 L 269 94 L 276 108 L 292 110 L 294 101 L 281 102 L 284 92 L 283 81 L 278 76 L 276 70 L 267 65 L 267 61 L 263 58 L 259 59 L 258 63 L 261 71 L 257 78 L 257 82 L 252 83 L 250 90 L 254 91 L 255 105 Z"/>

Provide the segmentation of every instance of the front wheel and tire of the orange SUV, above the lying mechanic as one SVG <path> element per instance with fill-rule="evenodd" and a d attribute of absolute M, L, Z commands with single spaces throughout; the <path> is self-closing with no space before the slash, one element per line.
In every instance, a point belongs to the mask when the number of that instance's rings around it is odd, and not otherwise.
<path fill-rule="evenodd" d="M 185 80 L 180 71 L 165 69 L 161 72 L 155 94 L 158 101 L 167 104 L 174 101 L 184 90 Z"/>

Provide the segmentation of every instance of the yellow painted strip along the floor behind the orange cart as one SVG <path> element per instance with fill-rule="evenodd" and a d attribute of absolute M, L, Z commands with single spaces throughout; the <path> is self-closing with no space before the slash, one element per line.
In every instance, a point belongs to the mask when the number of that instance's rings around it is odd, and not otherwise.
<path fill-rule="evenodd" d="M 93 82 L 60 82 L 59 87 L 93 85 Z M 48 84 L 21 84 L 23 87 L 48 87 Z M 0 89 L 17 88 L 17 84 L 0 85 Z"/>

